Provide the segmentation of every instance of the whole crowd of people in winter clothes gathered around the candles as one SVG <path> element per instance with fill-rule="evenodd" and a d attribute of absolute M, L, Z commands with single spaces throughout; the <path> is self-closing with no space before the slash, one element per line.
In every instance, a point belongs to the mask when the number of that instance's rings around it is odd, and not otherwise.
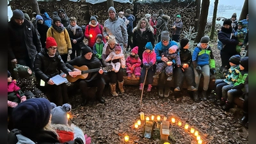
<path fill-rule="evenodd" d="M 66 140 L 60 137 L 58 127 L 51 125 L 56 119 L 51 113 L 50 101 L 58 106 L 58 111 L 71 109 L 67 104 L 70 103 L 67 83 L 55 84 L 53 77 L 57 75 L 77 78 L 74 85 L 81 90 L 82 106 L 92 98 L 88 95 L 89 87 L 97 87 L 93 97 L 101 104 L 105 103 L 102 93 L 107 83 L 114 97 L 125 93 L 123 69 L 126 69 L 127 79 L 134 76 L 140 81 L 139 90 L 143 90 L 147 80 L 147 92 L 150 92 L 154 77 L 158 78 L 159 97 L 169 97 L 172 81 L 174 92 L 179 93 L 186 79 L 187 90 L 193 92 L 196 102 L 200 100 L 198 86 L 203 75 L 201 99 L 209 99 L 210 76 L 216 74 L 216 70 L 208 36 L 203 36 L 194 51 L 189 51 L 189 40 L 180 40 L 180 15 L 176 16 L 171 34 L 166 26 L 170 17 L 164 15 L 163 10 L 159 10 L 158 15 L 153 13 L 152 17 L 146 14 L 134 28 L 135 17 L 130 9 L 116 13 L 111 6 L 108 14 L 109 18 L 102 25 L 97 16 L 90 17 L 90 23 L 83 31 L 77 25 L 76 17 L 68 17 L 63 9 L 52 13 L 52 17 L 42 9 L 31 21 L 21 10 L 13 11 L 8 22 L 8 128 L 12 130 L 10 136 L 16 138 L 10 143 L 22 140 L 85 143 L 86 138 L 78 127 L 68 127 L 73 133 Z M 238 22 L 235 16 L 225 19 L 218 33 L 223 44 L 220 51 L 223 79 L 216 79 L 215 102 L 223 110 L 228 110 L 234 104 L 234 97 L 244 95 L 244 116 L 240 122 L 248 127 L 248 52 L 245 52 L 247 55 L 241 54 L 241 51 L 248 51 L 248 15 L 246 20 Z M 88 45 L 84 44 L 84 38 L 88 39 Z M 131 51 L 127 58 L 124 51 Z M 83 66 L 91 71 L 79 69 Z M 104 72 L 104 67 L 111 71 Z M 81 78 L 81 74 L 88 76 Z M 42 87 L 44 92 L 40 90 Z M 38 123 L 33 121 L 35 118 Z M 66 121 L 63 124 L 68 126 Z M 44 139 L 45 136 L 49 141 Z"/>

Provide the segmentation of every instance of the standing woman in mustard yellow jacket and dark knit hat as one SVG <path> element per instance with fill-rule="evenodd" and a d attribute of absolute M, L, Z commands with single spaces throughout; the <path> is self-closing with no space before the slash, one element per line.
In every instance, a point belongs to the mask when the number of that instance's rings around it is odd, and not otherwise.
<path fill-rule="evenodd" d="M 53 24 L 48 29 L 46 36 L 52 36 L 56 40 L 61 59 L 66 63 L 68 60 L 68 54 L 72 54 L 72 45 L 68 31 L 62 26 L 60 17 L 53 18 Z"/>

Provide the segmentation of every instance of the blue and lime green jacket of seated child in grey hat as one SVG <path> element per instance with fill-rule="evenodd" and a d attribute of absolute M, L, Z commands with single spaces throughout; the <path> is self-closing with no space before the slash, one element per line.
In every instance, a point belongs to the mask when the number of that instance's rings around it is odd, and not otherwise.
<path fill-rule="evenodd" d="M 212 54 L 212 49 L 207 45 L 206 49 L 202 49 L 201 43 L 197 44 L 192 54 L 192 61 L 195 61 L 197 65 L 203 67 L 204 65 L 210 65 L 210 68 L 215 68 L 215 60 Z M 194 65 L 196 67 L 196 65 Z"/>

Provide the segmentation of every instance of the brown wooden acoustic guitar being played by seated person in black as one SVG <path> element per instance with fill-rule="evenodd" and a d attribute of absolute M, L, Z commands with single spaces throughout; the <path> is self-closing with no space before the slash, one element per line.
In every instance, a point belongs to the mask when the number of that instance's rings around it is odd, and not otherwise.
<path fill-rule="evenodd" d="M 74 83 L 75 81 L 77 81 L 77 79 L 88 79 L 88 78 L 90 78 L 90 76 L 89 76 L 90 73 L 98 72 L 100 70 L 100 68 L 89 69 L 86 65 L 82 65 L 81 67 L 73 65 L 73 67 L 81 70 L 81 75 L 76 76 L 76 77 L 67 76 L 68 82 L 70 82 L 70 83 Z M 112 70 L 112 68 L 113 68 L 112 65 L 110 65 L 108 67 L 103 67 L 102 70 L 105 72 L 109 72 Z"/>

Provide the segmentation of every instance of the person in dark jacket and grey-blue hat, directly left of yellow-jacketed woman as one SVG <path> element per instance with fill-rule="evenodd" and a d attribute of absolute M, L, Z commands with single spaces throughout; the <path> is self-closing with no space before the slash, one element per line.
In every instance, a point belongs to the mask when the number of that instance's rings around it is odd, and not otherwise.
<path fill-rule="evenodd" d="M 41 15 L 36 15 L 36 29 L 40 34 L 40 42 L 42 47 L 45 47 L 46 33 L 49 28 L 44 24 L 44 19 Z"/>

